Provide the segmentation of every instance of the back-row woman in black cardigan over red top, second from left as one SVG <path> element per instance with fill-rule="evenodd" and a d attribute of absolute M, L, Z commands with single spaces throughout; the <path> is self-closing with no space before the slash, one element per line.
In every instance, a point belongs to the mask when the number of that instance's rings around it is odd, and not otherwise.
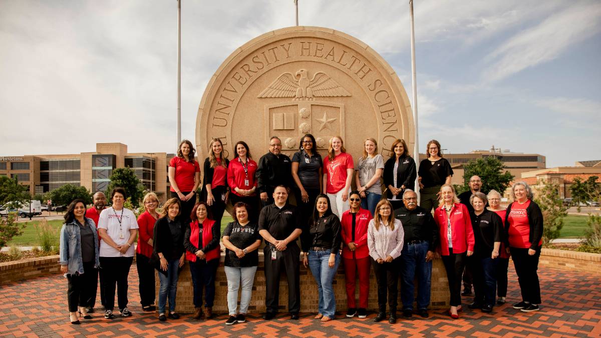
<path fill-rule="evenodd" d="M 221 224 L 225 204 L 230 195 L 227 184 L 227 168 L 230 160 L 224 155 L 224 147 L 219 138 L 213 138 L 209 144 L 209 157 L 204 159 L 203 200 L 211 209 L 217 224 Z"/>

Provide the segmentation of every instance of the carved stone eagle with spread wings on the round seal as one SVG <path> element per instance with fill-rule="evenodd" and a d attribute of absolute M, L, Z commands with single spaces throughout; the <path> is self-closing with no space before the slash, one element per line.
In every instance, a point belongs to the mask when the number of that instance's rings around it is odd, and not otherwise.
<path fill-rule="evenodd" d="M 326 73 L 317 72 L 309 79 L 305 69 L 292 73 L 284 73 L 275 79 L 269 87 L 261 91 L 258 97 L 294 97 L 294 100 L 313 100 L 313 97 L 350 96 L 338 82 Z"/>

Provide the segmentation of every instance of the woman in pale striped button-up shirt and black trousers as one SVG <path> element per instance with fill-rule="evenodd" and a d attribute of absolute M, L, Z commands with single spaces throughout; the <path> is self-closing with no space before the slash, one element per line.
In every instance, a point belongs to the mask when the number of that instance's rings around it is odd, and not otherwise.
<path fill-rule="evenodd" d="M 404 230 L 401 221 L 392 215 L 392 204 L 381 200 L 376 215 L 367 227 L 367 247 L 377 281 L 377 304 L 379 312 L 374 322 L 386 318 L 386 294 L 388 294 L 388 322 L 397 322 L 398 257 L 403 250 Z"/>

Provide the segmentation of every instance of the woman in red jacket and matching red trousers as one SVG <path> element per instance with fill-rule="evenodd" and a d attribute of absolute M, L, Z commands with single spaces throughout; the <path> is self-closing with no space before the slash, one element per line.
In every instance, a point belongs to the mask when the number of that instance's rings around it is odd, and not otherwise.
<path fill-rule="evenodd" d="M 367 225 L 370 223 L 371 213 L 361 209 L 361 195 L 353 191 L 349 197 L 350 210 L 342 214 L 342 258 L 344 263 L 344 277 L 346 280 L 346 299 L 349 307 L 346 316 L 359 318 L 367 316 L 367 300 L 370 292 L 370 250 L 367 247 Z M 359 309 L 355 302 L 355 278 L 359 271 Z"/>

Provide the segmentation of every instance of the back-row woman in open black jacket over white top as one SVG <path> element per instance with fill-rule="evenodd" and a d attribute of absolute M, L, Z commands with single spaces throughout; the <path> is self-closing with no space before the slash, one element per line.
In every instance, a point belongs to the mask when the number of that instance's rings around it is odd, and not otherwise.
<path fill-rule="evenodd" d="M 391 152 L 394 156 L 384 164 L 384 185 L 386 186 L 386 198 L 392 204 L 393 209 L 403 206 L 403 191 L 405 189 L 415 190 L 415 161 L 409 155 L 407 144 L 402 139 L 392 143 Z M 393 213 L 394 214 L 394 213 Z"/>

